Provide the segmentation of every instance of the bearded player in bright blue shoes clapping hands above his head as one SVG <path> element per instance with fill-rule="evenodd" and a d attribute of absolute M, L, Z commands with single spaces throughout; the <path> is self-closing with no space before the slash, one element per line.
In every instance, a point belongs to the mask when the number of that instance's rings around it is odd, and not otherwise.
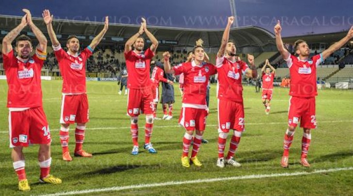
<path fill-rule="evenodd" d="M 150 138 L 153 130 L 153 97 L 151 92 L 151 79 L 149 77 L 150 62 L 154 57 L 158 47 L 158 40 L 147 30 L 146 20 L 142 18 L 139 31 L 128 39 L 125 44 L 125 60 L 128 68 L 128 114 L 131 120 L 131 136 L 133 148 L 131 154 L 139 153 L 138 143 L 138 117 L 140 111 L 146 115 L 146 123 L 144 127 L 144 149 L 149 153 L 156 153 Z M 142 34 L 146 33 L 152 45 L 143 51 L 144 38 Z M 132 49 L 132 47 L 134 49 Z"/>

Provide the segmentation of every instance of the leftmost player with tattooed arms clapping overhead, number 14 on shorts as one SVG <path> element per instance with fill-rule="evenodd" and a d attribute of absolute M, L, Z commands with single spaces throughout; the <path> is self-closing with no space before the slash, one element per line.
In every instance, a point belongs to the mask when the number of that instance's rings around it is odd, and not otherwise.
<path fill-rule="evenodd" d="M 9 108 L 9 138 L 13 166 L 18 177 L 18 189 L 30 191 L 31 187 L 25 172 L 23 147 L 39 144 L 38 161 L 40 166 L 40 182 L 60 184 L 62 181 L 49 175 L 50 131 L 47 117 L 43 111 L 41 69 L 47 58 L 47 38 L 32 22 L 31 12 L 26 13 L 21 23 L 11 30 L 2 40 L 3 66 L 6 73 L 8 89 L 7 107 Z M 38 39 L 39 44 L 33 50 L 31 39 L 20 35 L 16 39 L 16 53 L 11 43 L 26 26 L 29 26 Z"/>

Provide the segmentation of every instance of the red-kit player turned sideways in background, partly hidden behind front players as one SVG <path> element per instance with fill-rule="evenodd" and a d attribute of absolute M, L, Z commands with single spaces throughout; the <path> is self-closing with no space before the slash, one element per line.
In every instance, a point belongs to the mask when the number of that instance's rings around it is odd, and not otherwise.
<path fill-rule="evenodd" d="M 153 68 L 152 75 L 151 75 L 151 82 L 152 82 L 152 96 L 153 96 L 153 119 L 154 120 L 160 120 L 160 118 L 157 117 L 157 104 L 160 100 L 160 93 L 159 93 L 159 88 L 160 88 L 160 82 L 165 82 L 169 83 L 170 85 L 173 85 L 173 81 L 168 80 L 167 78 L 164 78 L 164 70 L 161 69 L 160 67 L 156 66 Z M 163 116 L 163 119 L 166 117 Z"/>

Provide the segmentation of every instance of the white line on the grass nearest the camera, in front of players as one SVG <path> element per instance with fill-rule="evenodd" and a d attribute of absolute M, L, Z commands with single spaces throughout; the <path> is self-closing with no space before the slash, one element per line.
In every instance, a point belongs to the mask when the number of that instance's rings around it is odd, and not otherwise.
<path fill-rule="evenodd" d="M 130 186 L 113 186 L 109 188 L 101 189 L 86 189 L 81 191 L 70 191 L 70 192 L 61 192 L 43 196 L 66 196 L 66 195 L 78 195 L 78 194 L 88 194 L 88 193 L 101 193 L 107 191 L 121 191 L 127 189 L 139 189 L 139 188 L 151 188 L 151 187 L 161 187 L 161 186 L 171 186 L 171 185 L 180 185 L 180 184 L 196 184 L 196 183 L 207 183 L 215 181 L 229 181 L 229 180 L 244 180 L 244 179 L 262 179 L 262 178 L 273 178 L 273 177 L 287 177 L 287 176 L 301 176 L 301 175 L 310 175 L 310 174 L 320 174 L 336 171 L 348 171 L 353 170 L 353 167 L 341 167 L 341 168 L 331 168 L 331 169 L 320 169 L 314 170 L 312 172 L 294 172 L 294 173 L 277 173 L 277 174 L 258 174 L 258 175 L 248 175 L 248 176 L 234 176 L 226 178 L 212 178 L 212 179 L 198 179 L 193 181 L 168 181 L 161 183 L 152 183 L 152 184 L 137 184 Z"/>

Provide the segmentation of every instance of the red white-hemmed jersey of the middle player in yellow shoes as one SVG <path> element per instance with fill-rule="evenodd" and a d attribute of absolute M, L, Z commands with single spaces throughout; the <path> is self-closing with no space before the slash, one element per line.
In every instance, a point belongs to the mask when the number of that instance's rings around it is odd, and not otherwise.
<path fill-rule="evenodd" d="M 175 75 L 184 74 L 184 94 L 182 107 L 206 109 L 206 92 L 209 76 L 217 73 L 217 68 L 210 63 L 196 65 L 193 62 L 183 62 L 173 67 Z"/>

